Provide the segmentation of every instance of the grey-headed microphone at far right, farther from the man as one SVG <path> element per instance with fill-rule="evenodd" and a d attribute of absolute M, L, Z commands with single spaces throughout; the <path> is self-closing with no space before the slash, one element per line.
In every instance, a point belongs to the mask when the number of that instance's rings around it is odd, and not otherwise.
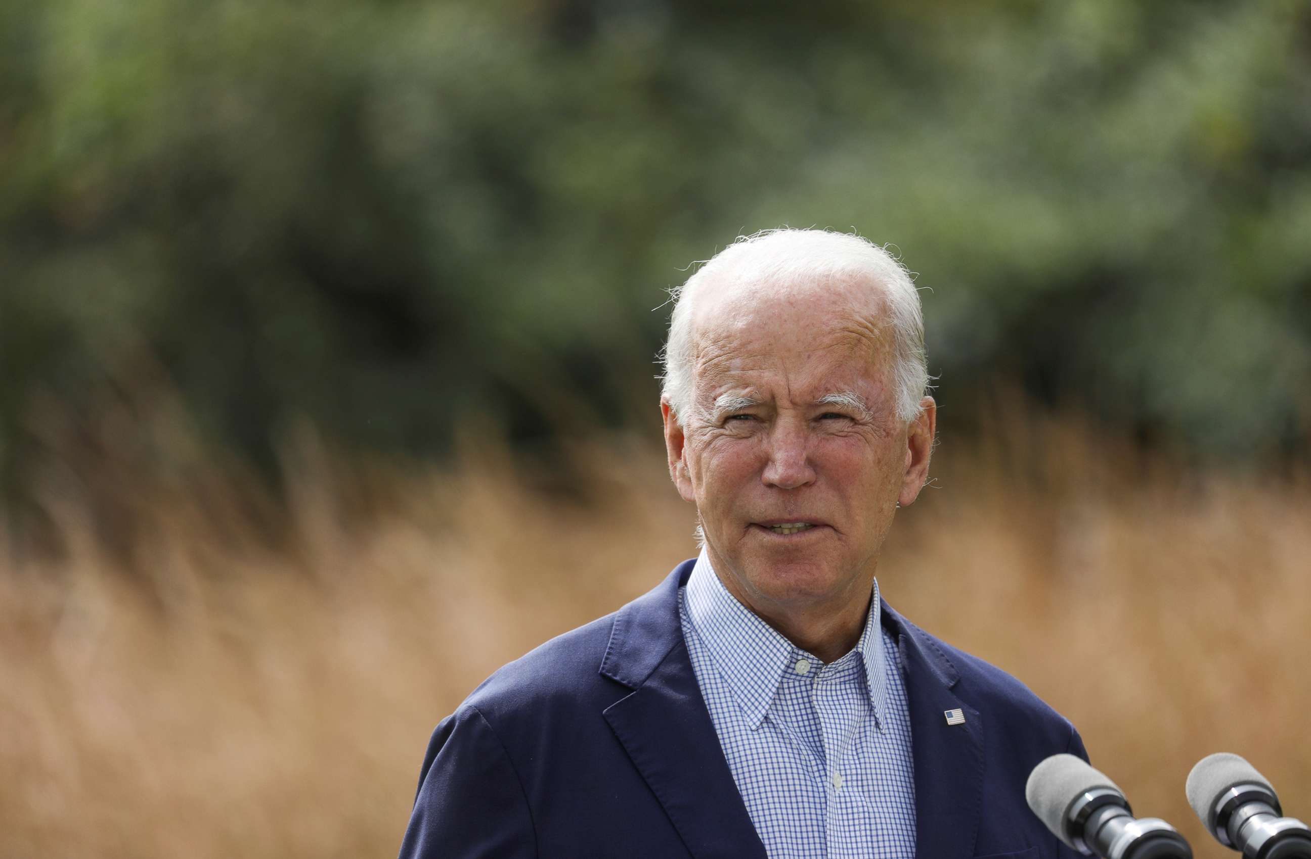
<path fill-rule="evenodd" d="M 1282 817 L 1280 797 L 1256 769 L 1218 752 L 1197 762 L 1184 787 L 1206 830 L 1248 859 L 1311 859 L 1311 828 Z"/>

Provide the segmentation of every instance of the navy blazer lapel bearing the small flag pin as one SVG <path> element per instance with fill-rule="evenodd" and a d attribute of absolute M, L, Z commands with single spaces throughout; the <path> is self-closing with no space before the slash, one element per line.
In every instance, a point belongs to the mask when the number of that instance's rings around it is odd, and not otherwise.
<path fill-rule="evenodd" d="M 983 799 L 982 718 L 953 694 L 960 676 L 928 634 L 886 602 L 882 608 L 906 677 L 915 762 L 915 855 L 973 856 Z M 954 710 L 961 711 L 952 714 L 957 724 L 949 724 L 948 714 Z"/>

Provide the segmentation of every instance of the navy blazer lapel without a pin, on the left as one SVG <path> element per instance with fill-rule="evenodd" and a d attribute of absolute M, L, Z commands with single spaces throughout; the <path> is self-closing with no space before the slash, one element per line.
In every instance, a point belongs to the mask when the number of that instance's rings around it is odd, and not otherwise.
<path fill-rule="evenodd" d="M 600 673 L 633 693 L 604 716 L 692 856 L 766 859 L 683 642 L 678 588 L 691 570 L 615 617 Z"/>

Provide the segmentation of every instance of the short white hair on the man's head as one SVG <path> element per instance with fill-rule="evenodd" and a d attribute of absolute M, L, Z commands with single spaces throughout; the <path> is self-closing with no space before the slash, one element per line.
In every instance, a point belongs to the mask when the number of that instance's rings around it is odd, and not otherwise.
<path fill-rule="evenodd" d="M 686 415 L 692 410 L 692 360 L 696 343 L 691 305 L 700 284 L 720 278 L 762 287 L 852 278 L 881 289 L 893 333 L 897 416 L 910 422 L 919 415 L 919 401 L 928 388 L 929 376 L 924 356 L 924 317 L 910 272 L 890 253 L 861 236 L 784 228 L 738 236 L 737 241 L 707 261 L 682 287 L 670 291 L 674 312 L 670 316 L 669 340 L 661 352 L 665 365 L 661 394 L 679 426 L 684 426 Z"/>

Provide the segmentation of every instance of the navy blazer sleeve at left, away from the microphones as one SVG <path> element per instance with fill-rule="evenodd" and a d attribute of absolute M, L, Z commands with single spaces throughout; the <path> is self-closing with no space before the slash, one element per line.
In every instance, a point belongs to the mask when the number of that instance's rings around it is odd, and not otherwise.
<path fill-rule="evenodd" d="M 460 707 L 427 744 L 400 859 L 536 855 L 528 799 L 505 745 L 476 707 Z"/>

